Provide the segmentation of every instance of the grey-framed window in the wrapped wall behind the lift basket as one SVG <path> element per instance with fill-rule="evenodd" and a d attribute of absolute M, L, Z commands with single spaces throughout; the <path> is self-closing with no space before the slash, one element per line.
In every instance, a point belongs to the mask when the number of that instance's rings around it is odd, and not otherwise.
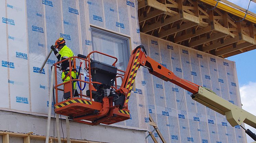
<path fill-rule="evenodd" d="M 125 71 L 130 57 L 128 38 L 94 27 L 91 27 L 91 31 L 93 51 L 98 51 L 117 57 L 117 69 Z M 93 58 L 94 60 L 98 60 L 109 65 L 112 65 L 112 63 L 115 61 L 113 58 L 97 53 L 93 55 Z M 117 78 L 117 85 L 121 85 L 121 78 Z"/>

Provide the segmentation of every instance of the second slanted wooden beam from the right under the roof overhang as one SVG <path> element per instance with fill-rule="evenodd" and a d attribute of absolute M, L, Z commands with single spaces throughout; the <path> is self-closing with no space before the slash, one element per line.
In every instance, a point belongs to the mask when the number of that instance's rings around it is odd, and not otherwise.
<path fill-rule="evenodd" d="M 247 48 L 247 47 L 252 46 L 252 45 L 253 44 L 251 44 L 251 43 L 244 42 L 242 44 L 236 45 L 235 47 L 231 46 L 231 47 L 228 47 L 228 48 L 224 48 L 223 50 L 217 51 L 215 54 L 216 54 L 216 56 L 225 55 L 225 54 L 232 53 L 234 51 L 237 51 L 237 50 L 240 50 L 240 49 L 243 49 L 243 48 Z"/>

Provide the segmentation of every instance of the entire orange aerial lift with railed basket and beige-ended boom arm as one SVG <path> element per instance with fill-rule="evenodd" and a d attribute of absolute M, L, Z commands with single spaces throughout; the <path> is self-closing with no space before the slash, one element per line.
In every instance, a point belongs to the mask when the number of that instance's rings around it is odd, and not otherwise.
<path fill-rule="evenodd" d="M 90 58 L 91 54 L 102 54 L 104 56 L 114 58 L 115 62 L 112 65 L 108 65 L 103 62 L 92 60 Z M 79 77 L 77 79 L 57 84 L 57 76 L 55 76 L 55 113 L 69 116 L 70 119 L 76 122 L 88 125 L 98 125 L 100 123 L 110 125 L 129 119 L 130 111 L 128 110 L 128 101 L 137 71 L 140 66 L 142 66 L 147 68 L 149 73 L 161 78 L 162 80 L 170 81 L 175 85 L 190 91 L 192 93 L 191 98 L 193 100 L 206 105 L 222 115 L 225 115 L 231 126 L 242 126 L 242 123 L 244 122 L 256 128 L 256 116 L 217 96 L 209 89 L 177 77 L 172 71 L 148 57 L 146 50 L 142 45 L 133 49 L 126 72 L 115 67 L 115 63 L 117 62 L 116 57 L 106 55 L 101 52 L 93 51 L 88 54 L 88 56 L 78 55 L 78 57 L 70 58 L 73 58 L 73 64 L 71 63 L 71 60 L 69 60 L 69 69 L 74 69 L 73 71 L 77 71 L 75 59 L 84 61 L 85 69 L 88 70 L 89 74 L 84 76 L 88 76 L 89 81 L 81 80 L 83 75 L 80 73 L 82 63 L 80 63 L 80 68 L 77 72 Z M 69 58 L 65 60 L 68 59 Z M 59 61 L 54 64 L 55 71 L 57 71 L 57 65 L 61 62 L 62 61 Z M 56 72 L 55 75 L 57 75 Z M 72 78 L 69 74 L 67 76 L 70 76 L 70 79 Z M 120 88 L 117 88 L 116 78 L 122 78 Z M 83 95 L 82 91 L 80 91 L 80 97 L 72 97 L 71 94 L 70 99 L 59 102 L 58 90 L 64 91 L 64 93 L 72 93 L 73 82 L 77 82 L 78 85 L 81 85 L 81 83 L 89 85 L 89 90 L 86 91 L 86 95 Z M 60 88 L 62 85 L 64 86 L 64 89 Z M 109 94 L 107 89 L 110 90 Z M 244 127 L 242 126 L 242 128 Z M 250 130 L 246 130 L 246 133 L 256 141 L 256 135 L 254 133 Z"/>

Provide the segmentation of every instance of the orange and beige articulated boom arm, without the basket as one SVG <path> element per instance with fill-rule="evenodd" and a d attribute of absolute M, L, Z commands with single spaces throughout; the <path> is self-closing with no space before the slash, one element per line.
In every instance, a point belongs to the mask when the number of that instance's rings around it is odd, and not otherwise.
<path fill-rule="evenodd" d="M 172 71 L 148 57 L 143 46 L 138 46 L 132 51 L 123 83 L 121 88 L 117 90 L 118 93 L 125 95 L 124 108 L 128 106 L 132 86 L 135 81 L 137 70 L 140 66 L 146 67 L 149 70 L 149 73 L 161 78 L 162 80 L 170 81 L 175 85 L 190 91 L 193 94 L 191 95 L 193 100 L 222 115 L 225 115 L 231 126 L 234 127 L 236 125 L 241 125 L 244 122 L 256 128 L 256 116 L 217 96 L 208 89 L 177 77 Z"/>

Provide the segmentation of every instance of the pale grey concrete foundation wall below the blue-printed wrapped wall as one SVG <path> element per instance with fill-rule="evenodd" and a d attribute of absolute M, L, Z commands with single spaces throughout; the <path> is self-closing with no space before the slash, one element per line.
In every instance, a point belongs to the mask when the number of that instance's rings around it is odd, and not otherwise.
<path fill-rule="evenodd" d="M 55 122 L 55 123 L 54 123 Z M 98 142 L 111 143 L 143 143 L 145 141 L 145 132 L 142 130 L 132 130 L 125 128 L 117 128 L 110 126 L 90 126 L 85 124 L 75 123 L 70 124 L 70 138 L 81 139 Z M 9 111 L 0 111 L 0 130 L 27 133 L 33 131 L 37 135 L 46 135 L 47 117 L 21 114 Z M 66 120 L 62 119 L 62 128 L 64 137 L 66 137 Z M 53 132 L 55 130 L 55 132 Z M 63 137 L 61 126 L 60 134 Z M 57 137 L 55 118 L 51 119 L 50 136 Z M 22 143 L 23 138 L 10 137 L 10 142 Z M 37 142 L 37 141 L 35 141 Z M 41 140 L 40 140 L 41 142 Z M 2 143 L 2 136 L 0 136 Z"/>

